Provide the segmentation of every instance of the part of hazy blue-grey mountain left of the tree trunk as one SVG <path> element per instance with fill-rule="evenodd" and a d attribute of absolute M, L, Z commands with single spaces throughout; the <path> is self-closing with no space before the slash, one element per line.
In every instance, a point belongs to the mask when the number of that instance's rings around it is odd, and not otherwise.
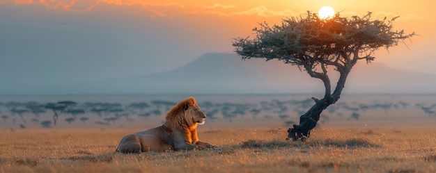
<path fill-rule="evenodd" d="M 279 61 L 241 60 L 233 53 L 208 53 L 168 72 L 83 83 L 107 93 L 277 93 L 316 92 L 322 83 Z M 321 85 L 319 85 L 321 84 Z M 76 89 L 80 87 L 74 87 Z"/>

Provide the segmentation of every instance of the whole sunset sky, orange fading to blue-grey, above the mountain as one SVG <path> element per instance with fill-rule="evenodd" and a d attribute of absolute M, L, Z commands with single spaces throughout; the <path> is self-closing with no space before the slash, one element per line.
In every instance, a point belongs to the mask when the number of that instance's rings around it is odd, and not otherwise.
<path fill-rule="evenodd" d="M 376 62 L 436 74 L 433 1 L 144 1 L 0 0 L 0 81 L 30 85 L 139 76 L 189 63 L 204 53 L 232 52 L 258 22 L 318 13 L 400 16 L 405 44 L 377 51 Z M 361 62 L 363 63 L 363 62 Z M 309 77 L 309 76 L 308 76 Z M 6 84 L 5 84 L 6 83 Z M 1 87 L 1 85 L 0 85 Z"/>

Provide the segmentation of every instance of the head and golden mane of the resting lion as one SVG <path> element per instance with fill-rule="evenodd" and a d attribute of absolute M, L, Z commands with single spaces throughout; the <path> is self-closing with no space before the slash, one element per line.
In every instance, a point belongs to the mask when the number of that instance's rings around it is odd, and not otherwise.
<path fill-rule="evenodd" d="M 165 120 L 173 126 L 186 126 L 195 129 L 197 124 L 204 124 L 206 114 L 201 111 L 194 97 L 188 97 L 180 101 L 169 110 Z"/>

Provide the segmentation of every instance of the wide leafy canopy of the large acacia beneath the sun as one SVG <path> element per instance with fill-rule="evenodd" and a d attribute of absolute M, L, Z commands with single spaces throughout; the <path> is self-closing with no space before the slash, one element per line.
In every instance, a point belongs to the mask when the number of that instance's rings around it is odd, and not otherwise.
<path fill-rule="evenodd" d="M 260 28 L 253 29 L 256 38 L 237 38 L 233 46 L 244 59 L 278 59 L 299 67 L 344 67 L 352 60 L 374 60 L 373 51 L 396 46 L 414 35 L 392 30 L 392 22 L 398 17 L 373 20 L 371 16 L 348 18 L 336 13 L 330 19 L 320 19 L 308 12 L 306 18 L 283 19 L 280 25 L 261 23 Z"/>

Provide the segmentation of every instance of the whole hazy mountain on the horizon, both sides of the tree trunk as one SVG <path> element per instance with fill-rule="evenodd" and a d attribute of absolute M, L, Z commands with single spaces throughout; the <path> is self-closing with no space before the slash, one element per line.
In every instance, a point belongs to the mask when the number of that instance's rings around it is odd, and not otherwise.
<path fill-rule="evenodd" d="M 329 69 L 332 85 L 336 71 Z M 436 92 L 436 75 L 357 63 L 348 76 L 348 93 Z M 334 86 L 333 86 L 334 87 Z M 277 60 L 241 60 L 235 53 L 208 53 L 168 72 L 123 79 L 64 83 L 37 88 L 47 94 L 268 94 L 324 92 L 319 79 Z M 45 92 L 43 92 L 46 90 Z"/>

